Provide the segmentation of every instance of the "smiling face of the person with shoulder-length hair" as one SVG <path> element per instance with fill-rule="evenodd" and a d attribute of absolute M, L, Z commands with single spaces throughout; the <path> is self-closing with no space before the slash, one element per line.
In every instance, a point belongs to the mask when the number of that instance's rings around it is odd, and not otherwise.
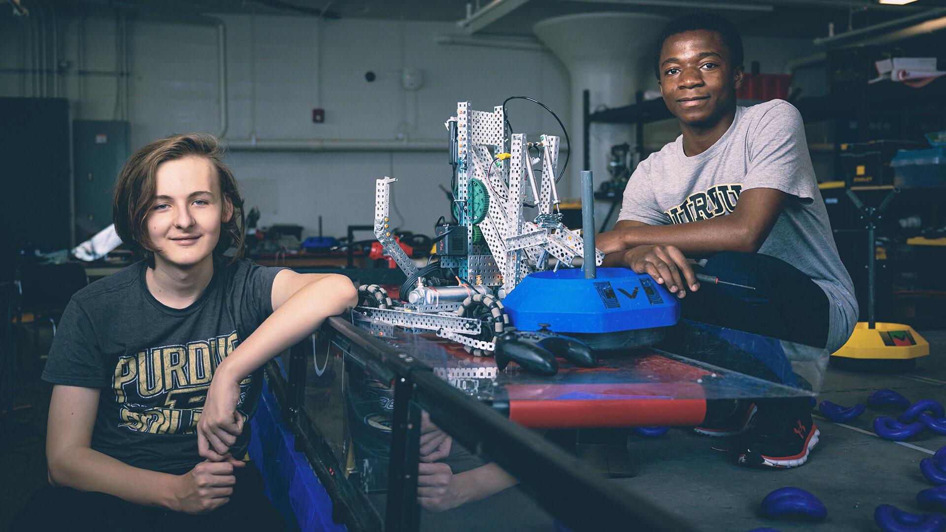
<path fill-rule="evenodd" d="M 233 216 L 217 169 L 204 157 L 188 156 L 161 163 L 154 181 L 145 224 L 155 268 L 188 270 L 212 263 L 220 227 Z"/>

